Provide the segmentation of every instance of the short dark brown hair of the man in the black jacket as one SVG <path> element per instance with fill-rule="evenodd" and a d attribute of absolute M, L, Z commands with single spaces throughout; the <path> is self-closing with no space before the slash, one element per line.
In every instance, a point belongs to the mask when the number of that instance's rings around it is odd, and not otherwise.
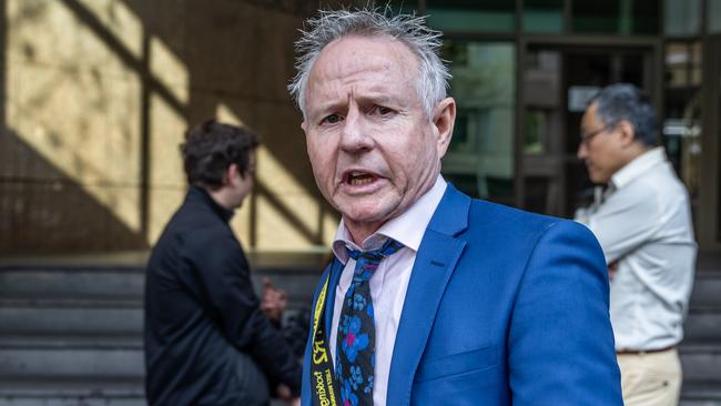
<path fill-rule="evenodd" d="M 257 136 L 247 128 L 209 120 L 185 133 L 181 144 L 187 183 L 219 189 L 223 174 L 236 164 L 241 175 L 248 170 L 251 151 L 258 145 Z"/>

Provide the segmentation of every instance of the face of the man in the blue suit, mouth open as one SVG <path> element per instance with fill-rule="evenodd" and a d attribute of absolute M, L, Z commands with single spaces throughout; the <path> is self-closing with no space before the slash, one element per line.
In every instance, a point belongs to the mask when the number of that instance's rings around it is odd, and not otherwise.
<path fill-rule="evenodd" d="M 302 125 L 308 156 L 321 193 L 356 242 L 403 213 L 440 171 L 455 102 L 441 101 L 430 120 L 417 78 L 415 55 L 390 37 L 338 39 L 311 71 Z"/>

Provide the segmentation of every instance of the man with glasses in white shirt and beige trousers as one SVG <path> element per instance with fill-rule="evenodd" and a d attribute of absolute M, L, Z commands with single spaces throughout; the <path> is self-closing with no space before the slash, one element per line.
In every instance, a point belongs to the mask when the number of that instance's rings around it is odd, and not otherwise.
<path fill-rule="evenodd" d="M 576 220 L 603 248 L 610 313 L 627 406 L 677 405 L 676 345 L 693 284 L 697 245 L 686 187 L 657 145 L 657 116 L 642 92 L 603 89 L 581 121 L 578 158 L 606 184 Z"/>

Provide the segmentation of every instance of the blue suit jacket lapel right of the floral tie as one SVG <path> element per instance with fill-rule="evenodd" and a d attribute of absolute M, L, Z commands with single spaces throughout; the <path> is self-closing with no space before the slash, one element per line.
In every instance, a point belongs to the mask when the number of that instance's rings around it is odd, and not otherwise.
<path fill-rule="evenodd" d="M 426 347 L 438 305 L 463 253 L 455 237 L 468 225 L 470 199 L 448 184 L 416 255 L 393 351 L 388 405 L 408 405 L 418 363 Z"/>

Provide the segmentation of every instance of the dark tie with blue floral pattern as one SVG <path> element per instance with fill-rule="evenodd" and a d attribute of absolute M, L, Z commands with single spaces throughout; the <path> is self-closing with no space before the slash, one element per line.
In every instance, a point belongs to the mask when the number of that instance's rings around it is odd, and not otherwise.
<path fill-rule="evenodd" d="M 373 405 L 376 327 L 368 281 L 380 261 L 402 247 L 388 238 L 378 250 L 348 252 L 356 264 L 341 311 L 335 357 L 343 406 Z"/>

